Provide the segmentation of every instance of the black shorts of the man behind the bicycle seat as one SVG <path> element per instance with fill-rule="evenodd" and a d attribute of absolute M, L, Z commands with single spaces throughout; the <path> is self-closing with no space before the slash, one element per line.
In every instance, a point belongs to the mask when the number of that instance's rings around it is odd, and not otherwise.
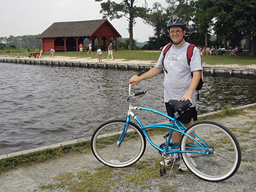
<path fill-rule="evenodd" d="M 165 107 L 166 107 L 166 111 L 167 111 L 167 114 L 169 116 L 172 116 L 174 117 L 174 109 L 172 107 L 171 104 L 169 104 L 168 102 L 165 103 Z M 188 124 L 189 122 L 191 122 L 191 119 L 193 118 L 193 120 L 197 120 L 197 111 L 196 111 L 196 107 L 193 107 L 193 108 L 189 108 L 188 111 L 185 111 L 184 113 L 180 114 L 179 113 L 179 118 L 178 120 L 180 122 L 182 122 L 183 124 Z"/>

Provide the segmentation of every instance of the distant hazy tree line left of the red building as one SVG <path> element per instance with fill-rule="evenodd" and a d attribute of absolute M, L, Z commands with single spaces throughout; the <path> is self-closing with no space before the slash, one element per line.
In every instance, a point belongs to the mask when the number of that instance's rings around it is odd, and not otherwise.
<path fill-rule="evenodd" d="M 0 49 L 4 48 L 40 48 L 42 40 L 37 38 L 38 35 L 23 35 L 23 36 L 3 36 L 0 37 Z"/>

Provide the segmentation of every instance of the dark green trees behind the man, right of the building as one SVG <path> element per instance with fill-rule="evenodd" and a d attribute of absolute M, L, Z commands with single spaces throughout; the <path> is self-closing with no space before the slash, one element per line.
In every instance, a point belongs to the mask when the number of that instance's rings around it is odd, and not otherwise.
<path fill-rule="evenodd" d="M 104 1 L 104 0 L 95 0 Z M 148 40 L 147 49 L 159 49 L 170 42 L 166 22 L 179 17 L 188 23 L 186 40 L 196 45 L 216 45 L 218 47 L 241 46 L 246 40 L 245 49 L 251 49 L 256 56 L 256 1 L 255 0 L 166 0 L 168 6 L 154 3 L 148 8 L 136 6 L 135 0 L 107 0 L 100 3 L 100 13 L 104 19 L 128 20 L 129 47 L 134 47 L 133 26 L 135 19 L 141 18 L 152 26 L 154 36 Z M 211 35 L 216 36 L 214 42 Z"/>

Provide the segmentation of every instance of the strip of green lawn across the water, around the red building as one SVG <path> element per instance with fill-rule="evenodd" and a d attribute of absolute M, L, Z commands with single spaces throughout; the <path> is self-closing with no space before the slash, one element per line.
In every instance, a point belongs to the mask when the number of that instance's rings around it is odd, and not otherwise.
<path fill-rule="evenodd" d="M 12 53 L 10 52 L 10 49 L 6 50 L 0 50 L 0 56 L 12 56 L 17 57 L 17 52 L 20 52 L 20 56 L 26 56 L 26 52 L 24 49 L 13 49 Z M 31 51 L 33 52 L 33 51 Z M 156 63 L 161 51 L 143 51 L 143 50 L 133 50 L 133 51 L 127 51 L 127 50 L 118 50 L 113 51 L 113 56 L 115 59 L 122 59 L 122 60 L 141 60 L 141 61 L 152 61 L 152 63 Z M 79 55 L 79 52 L 56 52 L 56 56 L 68 56 L 68 57 L 78 57 L 78 58 L 97 58 L 96 52 L 93 52 L 93 54 L 86 52 L 83 53 L 83 55 Z M 49 56 L 49 52 L 44 52 L 44 56 Z M 102 58 L 107 58 L 108 52 L 102 51 Z M 222 56 L 216 55 L 216 56 L 202 56 L 202 62 L 207 65 L 231 65 L 231 64 L 237 64 L 237 65 L 256 65 L 256 58 L 248 56 L 247 52 L 244 52 L 243 54 L 239 54 L 238 56 L 230 56 L 229 52 L 225 52 Z"/>

